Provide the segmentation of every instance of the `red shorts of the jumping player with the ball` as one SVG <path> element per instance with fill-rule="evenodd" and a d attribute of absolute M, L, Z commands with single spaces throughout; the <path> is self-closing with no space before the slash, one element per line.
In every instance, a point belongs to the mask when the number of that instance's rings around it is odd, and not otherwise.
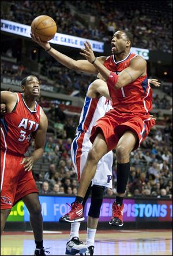
<path fill-rule="evenodd" d="M 132 131 L 137 137 L 137 144 L 133 149 L 135 150 L 140 147 L 153 125 L 155 125 L 155 120 L 151 119 L 149 114 L 125 114 L 111 109 L 103 118 L 97 120 L 96 125 L 92 128 L 90 140 L 93 143 L 101 129 L 108 151 L 111 151 L 116 148 L 119 139 L 126 131 Z"/>

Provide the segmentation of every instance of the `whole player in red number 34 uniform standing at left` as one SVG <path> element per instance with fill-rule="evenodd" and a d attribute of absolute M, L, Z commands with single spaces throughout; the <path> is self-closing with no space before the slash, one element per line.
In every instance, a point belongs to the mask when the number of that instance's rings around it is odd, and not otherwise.
<path fill-rule="evenodd" d="M 34 255 L 46 255 L 42 209 L 31 170 L 44 152 L 47 117 L 35 101 L 40 95 L 36 76 L 27 76 L 21 86 L 22 94 L 1 92 L 1 103 L 6 106 L 6 114 L 1 118 L 1 235 L 12 207 L 22 199 L 29 211 L 35 237 Z M 35 138 L 35 151 L 25 157 L 31 137 Z"/>

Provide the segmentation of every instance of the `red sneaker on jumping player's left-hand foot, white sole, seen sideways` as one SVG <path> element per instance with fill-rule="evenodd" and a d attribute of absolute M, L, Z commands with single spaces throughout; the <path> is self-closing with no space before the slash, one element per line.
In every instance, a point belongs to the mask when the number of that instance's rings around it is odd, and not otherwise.
<path fill-rule="evenodd" d="M 70 204 L 68 205 L 70 206 Z M 85 220 L 81 203 L 72 203 L 70 207 L 72 207 L 72 210 L 59 218 L 59 222 L 80 222 Z"/>

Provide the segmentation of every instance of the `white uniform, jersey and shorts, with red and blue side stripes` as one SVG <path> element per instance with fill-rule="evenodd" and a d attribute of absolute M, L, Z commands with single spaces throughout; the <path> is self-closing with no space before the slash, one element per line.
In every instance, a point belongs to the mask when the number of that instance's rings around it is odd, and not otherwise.
<path fill-rule="evenodd" d="M 78 181 L 80 181 L 89 149 L 92 147 L 92 143 L 89 140 L 92 127 L 95 125 L 96 121 L 103 117 L 110 109 L 112 109 L 111 101 L 103 96 L 100 98 L 85 97 L 80 123 L 76 130 L 76 138 L 74 138 L 71 148 L 72 160 Z M 92 185 L 112 188 L 112 162 L 113 153 L 110 151 L 104 155 L 97 164 L 97 170 L 92 180 Z"/>

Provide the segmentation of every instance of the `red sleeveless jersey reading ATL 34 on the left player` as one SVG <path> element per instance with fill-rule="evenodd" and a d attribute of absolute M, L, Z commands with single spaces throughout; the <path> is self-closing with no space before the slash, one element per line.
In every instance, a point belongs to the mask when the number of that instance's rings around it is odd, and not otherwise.
<path fill-rule="evenodd" d="M 34 111 L 28 108 L 21 93 L 17 94 L 14 111 L 1 118 L 1 149 L 12 155 L 27 152 L 31 134 L 39 127 L 42 108 L 35 102 Z"/>

